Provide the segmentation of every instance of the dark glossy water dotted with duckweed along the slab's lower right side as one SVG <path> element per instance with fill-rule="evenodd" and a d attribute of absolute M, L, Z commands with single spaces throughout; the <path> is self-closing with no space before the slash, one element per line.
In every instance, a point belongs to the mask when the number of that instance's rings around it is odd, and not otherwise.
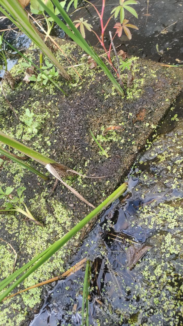
<path fill-rule="evenodd" d="M 182 104 L 181 94 L 137 158 L 127 191 L 100 215 L 70 261 L 74 265 L 88 257 L 92 262 L 91 325 L 182 325 L 177 292 Z M 171 120 L 175 114 L 177 120 Z M 30 326 L 81 325 L 84 275 L 85 268 L 47 285 Z"/>

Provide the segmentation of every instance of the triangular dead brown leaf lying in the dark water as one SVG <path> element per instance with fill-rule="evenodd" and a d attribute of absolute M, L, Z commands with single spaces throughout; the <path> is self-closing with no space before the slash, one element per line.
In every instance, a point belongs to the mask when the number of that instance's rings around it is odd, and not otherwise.
<path fill-rule="evenodd" d="M 151 247 L 148 245 L 131 245 L 127 250 L 127 267 L 131 271 L 137 261 L 141 259 Z"/>

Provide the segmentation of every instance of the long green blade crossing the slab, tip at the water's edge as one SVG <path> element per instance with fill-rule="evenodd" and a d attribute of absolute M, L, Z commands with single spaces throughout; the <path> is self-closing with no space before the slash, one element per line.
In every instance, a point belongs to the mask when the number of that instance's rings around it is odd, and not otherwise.
<path fill-rule="evenodd" d="M 103 209 L 109 206 L 112 201 L 118 198 L 127 189 L 127 183 L 124 182 L 120 185 L 107 199 L 105 199 L 98 207 L 96 207 L 92 212 L 85 216 L 77 225 L 75 225 L 69 232 L 67 232 L 62 238 L 57 240 L 54 244 L 51 244 L 45 251 L 40 253 L 34 259 L 29 261 L 27 264 L 22 266 L 18 271 L 9 275 L 6 279 L 0 282 L 0 291 L 7 287 L 11 281 L 17 278 L 20 274 L 25 272 L 20 276 L 9 288 L 7 288 L 0 295 L 0 302 L 26 277 L 33 273 L 39 266 L 41 266 L 47 259 L 49 259 L 54 253 L 56 253 L 64 244 L 66 244 L 78 231 L 80 231 L 92 218 L 98 215 Z"/>

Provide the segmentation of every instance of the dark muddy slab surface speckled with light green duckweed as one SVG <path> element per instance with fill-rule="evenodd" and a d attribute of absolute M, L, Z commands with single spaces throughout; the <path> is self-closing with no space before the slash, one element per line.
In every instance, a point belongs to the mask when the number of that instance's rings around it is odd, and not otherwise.
<path fill-rule="evenodd" d="M 4 85 L 11 104 L 15 107 L 20 120 L 25 121 L 25 110 L 34 113 L 33 121 L 38 122 L 37 135 L 28 133 L 28 127 L 16 121 L 4 97 L 1 95 L 1 130 L 6 134 L 28 144 L 33 149 L 54 160 L 88 176 L 108 177 L 103 179 L 83 179 L 69 177 L 65 181 L 79 191 L 95 206 L 107 197 L 126 176 L 138 151 L 144 147 L 157 124 L 163 118 L 170 105 L 181 90 L 181 69 L 161 67 L 151 61 L 133 58 L 135 62 L 134 88 L 127 90 L 127 97 L 120 97 L 100 68 L 90 70 L 87 56 L 72 42 L 59 40 L 62 50 L 74 63 L 83 81 L 68 68 L 74 79 L 73 84 L 56 79 L 59 86 L 68 93 L 68 97 L 52 84 L 40 87 L 37 83 L 28 85 L 22 77 L 14 91 Z M 30 47 L 28 54 L 35 59 L 37 55 Z M 68 65 L 64 55 L 56 52 L 63 65 Z M 20 59 L 21 61 L 22 59 Z M 12 74 L 16 77 L 19 64 L 14 66 Z M 125 84 L 126 76 L 124 76 Z M 140 112 L 145 112 L 139 120 Z M 122 126 L 121 132 L 109 132 L 105 137 L 101 132 L 109 126 Z M 108 152 L 110 158 L 102 156 L 98 146 L 89 134 L 89 128 Z M 14 154 L 17 154 L 14 151 Z M 29 160 L 43 173 L 44 168 Z M 47 173 L 48 175 L 48 173 Z M 16 188 L 25 186 L 25 202 L 33 215 L 45 224 L 42 228 L 25 221 L 19 215 L 0 215 L 1 238 L 9 242 L 18 254 L 16 269 L 35 257 L 49 244 L 64 234 L 62 226 L 70 230 L 89 209 L 58 185 L 54 195 L 48 200 L 54 216 L 46 209 L 46 196 L 54 185 L 54 179 L 43 181 L 31 172 L 11 161 L 5 161 L 1 170 L 0 185 Z M 58 251 L 49 261 L 25 280 L 19 289 L 43 281 L 67 268 L 68 258 L 84 238 L 85 232 Z M 78 240 L 79 238 L 79 240 Z M 1 277 L 11 273 L 14 253 L 8 250 L 4 242 L 0 246 L 0 255 L 5 264 L 1 264 Z M 0 325 L 25 325 L 30 312 L 36 312 L 40 303 L 42 289 L 33 289 L 1 305 Z"/>

